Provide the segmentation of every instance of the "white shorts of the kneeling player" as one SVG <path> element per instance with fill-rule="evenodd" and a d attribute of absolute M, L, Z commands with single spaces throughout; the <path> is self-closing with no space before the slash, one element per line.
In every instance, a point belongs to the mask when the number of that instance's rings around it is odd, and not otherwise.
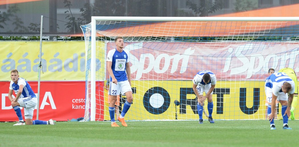
<path fill-rule="evenodd" d="M 33 111 L 37 104 L 37 98 L 31 96 L 26 98 L 19 98 L 18 103 L 20 104 L 21 107 L 25 108 L 24 109 L 25 119 L 27 118 L 32 119 Z"/>

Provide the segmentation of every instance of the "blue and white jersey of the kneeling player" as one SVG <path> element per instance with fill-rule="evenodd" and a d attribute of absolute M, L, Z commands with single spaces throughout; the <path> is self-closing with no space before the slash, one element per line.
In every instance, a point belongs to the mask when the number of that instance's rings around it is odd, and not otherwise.
<path fill-rule="evenodd" d="M 22 91 L 22 94 L 21 94 L 21 98 L 27 98 L 27 97 L 30 97 L 30 96 L 31 96 L 31 98 L 36 98 L 35 93 L 33 92 L 30 85 L 28 84 L 28 82 L 24 78 L 19 78 L 17 84 L 14 83 L 13 81 L 10 81 L 9 89 L 14 90 L 14 92 L 17 94 L 19 92 L 19 86 L 20 85 L 24 85 L 24 88 L 23 88 L 23 91 Z"/>

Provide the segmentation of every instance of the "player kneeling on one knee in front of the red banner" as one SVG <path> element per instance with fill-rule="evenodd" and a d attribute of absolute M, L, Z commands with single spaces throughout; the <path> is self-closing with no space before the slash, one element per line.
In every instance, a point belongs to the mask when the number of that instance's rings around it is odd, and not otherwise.
<path fill-rule="evenodd" d="M 24 116 L 26 125 L 54 125 L 52 119 L 49 121 L 32 121 L 33 110 L 37 104 L 37 98 L 33 90 L 24 78 L 19 78 L 18 70 L 12 70 L 10 72 L 10 78 L 11 82 L 9 86 L 8 98 L 11 101 L 11 106 L 19 117 L 18 123 L 14 124 L 13 126 L 25 125 L 20 107 L 25 108 Z M 16 98 L 12 97 L 13 91 L 16 93 Z"/>

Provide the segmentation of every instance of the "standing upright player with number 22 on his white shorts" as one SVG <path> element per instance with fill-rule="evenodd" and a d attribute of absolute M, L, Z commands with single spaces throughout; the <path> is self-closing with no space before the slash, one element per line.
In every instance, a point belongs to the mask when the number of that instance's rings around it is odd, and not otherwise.
<path fill-rule="evenodd" d="M 132 101 L 132 88 L 131 88 L 131 69 L 129 64 L 129 51 L 123 50 L 124 43 L 123 37 L 115 38 L 116 48 L 112 49 L 107 54 L 107 71 L 110 75 L 110 87 L 108 94 L 110 95 L 109 114 L 112 127 L 119 127 L 115 122 L 115 102 L 117 95 L 122 93 L 126 95 L 126 102 L 123 105 L 123 110 L 118 117 L 118 120 L 123 126 L 127 126 L 124 116 L 128 112 Z"/>

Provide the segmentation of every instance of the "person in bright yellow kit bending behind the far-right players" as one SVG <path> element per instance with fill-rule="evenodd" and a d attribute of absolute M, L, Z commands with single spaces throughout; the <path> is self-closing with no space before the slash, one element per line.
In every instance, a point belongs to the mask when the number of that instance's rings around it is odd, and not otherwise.
<path fill-rule="evenodd" d="M 292 106 L 291 106 L 291 120 L 295 120 L 294 110 L 297 105 L 297 99 L 298 99 L 297 75 L 296 75 L 295 71 L 289 67 L 280 69 L 278 72 L 286 73 L 290 78 L 292 78 L 292 80 L 295 83 L 295 92 L 294 92 L 293 102 L 292 102 Z"/>

